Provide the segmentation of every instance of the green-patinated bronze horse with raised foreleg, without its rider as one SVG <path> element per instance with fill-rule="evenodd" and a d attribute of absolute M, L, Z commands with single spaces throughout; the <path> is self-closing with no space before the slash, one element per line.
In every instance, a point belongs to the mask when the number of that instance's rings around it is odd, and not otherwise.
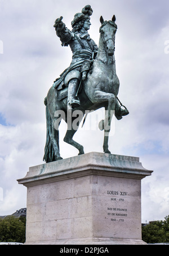
<path fill-rule="evenodd" d="M 78 108 L 77 127 L 73 126 L 74 120 L 77 118 L 75 111 L 69 110 L 67 107 L 67 97 L 60 100 L 57 97 L 57 90 L 52 86 L 48 91 L 45 99 L 46 105 L 46 122 L 47 122 L 47 137 L 45 146 L 45 155 L 43 160 L 52 162 L 62 159 L 59 151 L 59 124 L 61 119 L 68 124 L 64 141 L 76 147 L 79 154 L 84 154 L 83 146 L 73 140 L 73 136 L 82 121 L 84 114 L 87 111 L 94 111 L 105 108 L 105 118 L 99 123 L 99 128 L 104 129 L 104 153 L 110 153 L 108 149 L 108 138 L 110 132 L 110 123 L 112 113 L 118 118 L 118 112 L 121 111 L 121 106 L 118 104 L 119 79 L 115 70 L 115 33 L 117 25 L 115 24 L 115 16 L 112 20 L 104 21 L 100 18 L 100 40 L 99 50 L 97 52 L 91 71 L 88 72 L 86 80 L 82 81 L 82 89 L 78 92 L 78 97 L 81 101 L 81 106 Z M 65 91 L 67 88 L 65 88 Z M 61 115 L 61 113 L 64 115 Z M 128 111 L 124 111 L 123 115 L 127 115 Z M 69 118 L 70 117 L 70 118 Z"/>

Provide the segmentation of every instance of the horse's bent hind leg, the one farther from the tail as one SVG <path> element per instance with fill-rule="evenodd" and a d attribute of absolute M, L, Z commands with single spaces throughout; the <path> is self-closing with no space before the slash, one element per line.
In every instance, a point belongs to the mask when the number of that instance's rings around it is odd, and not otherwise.
<path fill-rule="evenodd" d="M 64 141 L 66 143 L 74 146 L 75 148 L 77 148 L 79 150 L 78 155 L 84 154 L 83 146 L 81 144 L 79 144 L 78 142 L 74 141 L 73 136 L 74 136 L 75 132 L 77 132 L 77 129 L 79 127 L 79 123 L 81 122 L 82 118 L 83 118 L 83 115 L 78 118 L 78 123 L 74 123 L 74 125 L 73 125 L 73 122 L 75 121 L 75 118 L 72 119 L 72 123 L 71 123 L 71 125 L 68 125 L 68 130 L 67 130 L 67 132 L 65 134 L 65 137 L 64 137 Z"/>

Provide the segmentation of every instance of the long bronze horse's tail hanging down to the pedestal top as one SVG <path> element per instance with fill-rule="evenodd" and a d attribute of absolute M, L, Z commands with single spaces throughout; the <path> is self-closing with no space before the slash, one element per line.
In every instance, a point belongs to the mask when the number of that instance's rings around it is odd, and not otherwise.
<path fill-rule="evenodd" d="M 46 145 L 45 145 L 45 155 L 43 157 L 43 161 L 48 163 L 48 162 L 53 162 L 56 159 L 55 159 L 54 146 L 51 141 L 52 119 L 50 116 L 50 112 L 48 111 L 47 98 L 45 98 L 44 103 L 46 105 Z"/>

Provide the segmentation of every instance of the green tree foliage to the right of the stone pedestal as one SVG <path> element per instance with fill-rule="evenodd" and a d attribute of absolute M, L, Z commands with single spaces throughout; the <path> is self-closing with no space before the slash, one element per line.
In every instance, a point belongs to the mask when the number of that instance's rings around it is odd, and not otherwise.
<path fill-rule="evenodd" d="M 169 215 L 142 227 L 142 239 L 148 244 L 169 242 Z"/>

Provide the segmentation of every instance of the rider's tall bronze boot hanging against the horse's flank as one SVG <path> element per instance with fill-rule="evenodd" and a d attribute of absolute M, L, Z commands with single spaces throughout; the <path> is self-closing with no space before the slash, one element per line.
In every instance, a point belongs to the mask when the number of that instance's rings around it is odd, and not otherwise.
<path fill-rule="evenodd" d="M 68 86 L 68 108 L 72 109 L 78 108 L 80 106 L 79 98 L 76 95 L 78 90 L 79 80 L 74 78 L 69 81 Z"/>

